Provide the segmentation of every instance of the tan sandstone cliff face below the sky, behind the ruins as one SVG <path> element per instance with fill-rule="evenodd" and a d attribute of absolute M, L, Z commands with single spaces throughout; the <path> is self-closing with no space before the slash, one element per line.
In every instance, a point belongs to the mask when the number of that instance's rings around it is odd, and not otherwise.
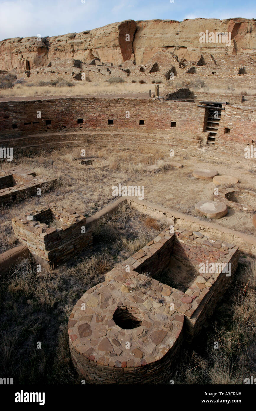
<path fill-rule="evenodd" d="M 231 46 L 199 42 L 200 33 L 231 32 Z M 80 33 L 38 39 L 5 39 L 0 42 L 0 69 L 29 71 L 48 65 L 51 59 L 75 58 L 122 64 L 127 60 L 145 64 L 159 51 L 172 51 L 178 58 L 200 59 L 201 53 L 253 53 L 256 49 L 256 20 L 195 18 L 173 20 L 127 20 Z"/>

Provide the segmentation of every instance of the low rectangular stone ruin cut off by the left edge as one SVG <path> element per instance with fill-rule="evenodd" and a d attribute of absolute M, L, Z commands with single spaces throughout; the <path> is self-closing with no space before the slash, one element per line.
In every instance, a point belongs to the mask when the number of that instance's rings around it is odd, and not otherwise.
<path fill-rule="evenodd" d="M 50 188 L 57 181 L 46 175 L 36 175 L 30 170 L 14 167 L 0 171 L 0 205 L 36 195 L 37 189 Z"/>

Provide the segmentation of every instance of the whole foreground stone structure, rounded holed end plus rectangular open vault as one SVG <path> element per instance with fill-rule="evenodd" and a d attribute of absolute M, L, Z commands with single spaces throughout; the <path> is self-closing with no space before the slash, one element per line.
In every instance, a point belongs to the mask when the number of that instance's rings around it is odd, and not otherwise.
<path fill-rule="evenodd" d="M 71 357 L 81 378 L 162 383 L 183 337 L 193 341 L 223 296 L 238 256 L 238 247 L 228 242 L 178 228 L 163 231 L 115 266 L 105 282 L 81 296 L 69 318 Z M 207 261 L 214 270 L 200 274 L 199 264 Z M 176 288 L 156 279 L 163 270 Z"/>

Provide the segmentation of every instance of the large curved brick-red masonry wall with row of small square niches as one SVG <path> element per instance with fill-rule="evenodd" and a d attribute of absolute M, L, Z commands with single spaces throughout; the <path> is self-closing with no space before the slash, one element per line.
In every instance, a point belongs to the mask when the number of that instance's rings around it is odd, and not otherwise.
<path fill-rule="evenodd" d="M 0 102 L 0 145 L 32 147 L 42 144 L 43 137 L 44 145 L 58 146 L 85 141 L 95 132 L 101 133 L 103 140 L 113 132 L 136 132 L 142 139 L 157 133 L 164 134 L 165 143 L 170 139 L 191 146 L 188 139 L 206 142 L 209 134 L 204 131 L 205 108 L 198 105 L 160 99 L 83 97 Z M 256 108 L 225 104 L 223 108 L 215 147 L 239 150 L 237 154 L 244 157 L 243 147 L 255 140 Z"/>

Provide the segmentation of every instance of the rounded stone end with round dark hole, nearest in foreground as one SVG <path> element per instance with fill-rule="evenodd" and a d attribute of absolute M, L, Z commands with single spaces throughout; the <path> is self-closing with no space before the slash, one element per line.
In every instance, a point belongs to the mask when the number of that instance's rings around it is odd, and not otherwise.
<path fill-rule="evenodd" d="M 68 324 L 72 361 L 90 383 L 160 383 L 178 356 L 184 317 L 123 287 L 103 282 L 78 300 Z"/>

